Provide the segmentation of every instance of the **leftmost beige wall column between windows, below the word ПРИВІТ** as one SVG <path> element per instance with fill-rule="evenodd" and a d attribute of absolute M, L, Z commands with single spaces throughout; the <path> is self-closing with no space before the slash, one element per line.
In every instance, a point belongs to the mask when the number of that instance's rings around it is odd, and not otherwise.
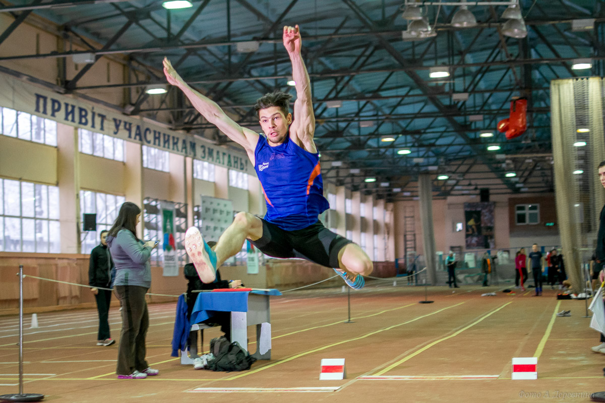
<path fill-rule="evenodd" d="M 33 161 L 35 163 L 35 161 Z M 57 123 L 61 253 L 80 253 L 80 152 L 77 129 Z"/>

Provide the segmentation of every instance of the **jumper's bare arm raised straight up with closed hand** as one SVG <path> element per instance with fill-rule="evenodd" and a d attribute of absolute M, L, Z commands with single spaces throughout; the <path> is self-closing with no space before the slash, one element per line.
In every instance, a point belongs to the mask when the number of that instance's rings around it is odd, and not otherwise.
<path fill-rule="evenodd" d="M 284 27 L 284 47 L 292 62 L 292 78 L 296 83 L 296 101 L 294 102 L 294 121 L 290 126 L 290 135 L 295 135 L 304 148 L 316 152 L 313 135 L 315 134 L 315 115 L 311 97 L 309 73 L 301 56 L 302 39 L 298 25 Z"/>

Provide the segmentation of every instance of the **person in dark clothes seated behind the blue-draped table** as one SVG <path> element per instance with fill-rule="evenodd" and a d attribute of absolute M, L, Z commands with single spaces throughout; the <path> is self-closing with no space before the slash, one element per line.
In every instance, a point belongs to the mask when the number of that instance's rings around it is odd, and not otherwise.
<path fill-rule="evenodd" d="M 212 248 L 215 242 L 208 242 L 208 245 Z M 187 318 L 191 318 L 191 312 L 195 305 L 198 292 L 194 290 L 210 290 L 216 288 L 239 288 L 242 286 L 241 280 L 221 280 L 221 275 L 217 270 L 217 279 L 213 283 L 202 283 L 200 277 L 198 277 L 197 271 L 193 263 L 187 263 L 185 265 L 185 278 L 189 280 L 187 284 Z M 230 312 L 216 312 L 216 314 L 208 318 L 201 323 L 206 324 L 219 324 L 221 326 L 221 332 L 225 334 L 227 340 L 231 341 L 231 317 Z M 198 358 L 197 355 L 197 332 L 190 332 L 189 339 L 187 340 L 187 346 L 189 347 L 189 354 L 191 358 Z M 202 346 L 203 347 L 203 346 Z"/>

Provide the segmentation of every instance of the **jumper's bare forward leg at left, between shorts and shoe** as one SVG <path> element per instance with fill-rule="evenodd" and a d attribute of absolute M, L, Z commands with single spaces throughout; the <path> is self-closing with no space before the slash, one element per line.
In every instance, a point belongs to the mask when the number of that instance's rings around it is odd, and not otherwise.
<path fill-rule="evenodd" d="M 218 239 L 214 248 L 217 254 L 217 267 L 220 267 L 229 257 L 239 253 L 246 238 L 257 240 L 261 236 L 263 236 L 263 222 L 260 218 L 243 211 L 235 214 L 233 222 Z"/>

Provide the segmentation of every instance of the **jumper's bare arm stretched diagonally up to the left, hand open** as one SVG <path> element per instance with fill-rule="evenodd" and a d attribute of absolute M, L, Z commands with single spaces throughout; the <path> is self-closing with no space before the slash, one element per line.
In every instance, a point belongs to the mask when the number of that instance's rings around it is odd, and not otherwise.
<path fill-rule="evenodd" d="M 225 114 L 223 109 L 221 109 L 216 102 L 191 88 L 191 86 L 181 79 L 181 76 L 178 75 L 177 71 L 172 67 L 170 60 L 166 57 L 164 58 L 164 74 L 169 83 L 177 86 L 183 91 L 194 108 L 197 109 L 206 120 L 217 126 L 221 132 L 235 141 L 235 143 L 244 147 L 250 160 L 254 163 L 254 149 L 257 146 L 258 133 L 235 123 L 232 118 Z"/>

